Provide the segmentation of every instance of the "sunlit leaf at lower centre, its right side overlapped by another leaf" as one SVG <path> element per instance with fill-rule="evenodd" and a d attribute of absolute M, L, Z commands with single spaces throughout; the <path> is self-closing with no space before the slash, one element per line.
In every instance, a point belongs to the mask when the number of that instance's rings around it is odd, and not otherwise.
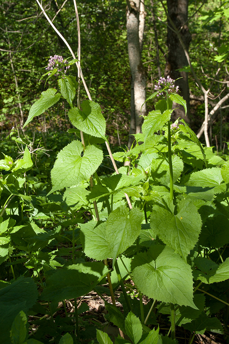
<path fill-rule="evenodd" d="M 97 226 L 94 220 L 81 224 L 80 240 L 84 253 L 92 259 L 103 260 L 111 255 L 106 222 Z"/>

